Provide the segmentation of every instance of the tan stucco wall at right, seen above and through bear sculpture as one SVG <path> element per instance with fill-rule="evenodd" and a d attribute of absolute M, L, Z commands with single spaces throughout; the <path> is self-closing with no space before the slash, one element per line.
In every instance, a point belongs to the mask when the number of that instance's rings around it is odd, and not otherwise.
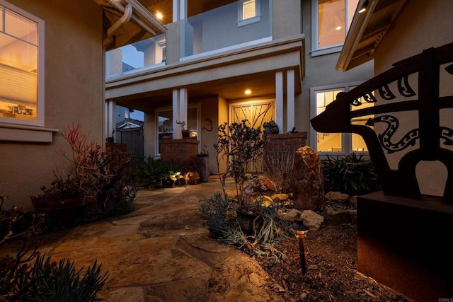
<path fill-rule="evenodd" d="M 447 43 L 453 42 L 451 28 L 453 28 L 453 1 L 437 0 L 423 1 L 412 0 L 401 13 L 395 25 L 391 27 L 386 34 L 375 53 L 375 70 L 376 74 L 391 68 L 395 62 L 406 59 L 415 54 L 419 54 L 429 47 L 440 47 Z M 445 71 L 441 71 L 441 74 Z M 412 76 L 411 85 L 417 88 L 417 78 Z M 411 79 L 410 78 L 410 79 Z M 442 78 L 442 75 L 441 75 Z M 441 95 L 452 95 L 452 79 L 449 79 L 441 86 Z M 441 112 L 441 125 L 453 128 L 452 110 L 443 110 Z M 400 124 L 405 130 L 417 128 L 418 116 L 408 114 L 408 112 L 398 115 Z M 415 146 L 415 148 L 417 148 Z M 449 148 L 442 145 L 442 148 Z M 408 149 L 410 151 L 412 149 Z M 451 148 L 450 148 L 451 150 Z M 396 168 L 401 156 L 406 152 L 398 152 L 394 155 L 387 155 L 391 167 Z M 417 167 L 417 178 L 422 194 L 441 196 L 447 178 L 446 168 L 439 162 L 423 162 Z"/>

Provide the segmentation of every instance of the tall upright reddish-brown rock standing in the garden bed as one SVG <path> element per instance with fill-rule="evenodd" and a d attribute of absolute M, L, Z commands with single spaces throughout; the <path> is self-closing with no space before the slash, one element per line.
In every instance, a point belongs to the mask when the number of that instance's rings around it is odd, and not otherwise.
<path fill-rule="evenodd" d="M 321 161 L 309 146 L 294 153 L 291 183 L 295 208 L 317 211 L 326 207 Z"/>

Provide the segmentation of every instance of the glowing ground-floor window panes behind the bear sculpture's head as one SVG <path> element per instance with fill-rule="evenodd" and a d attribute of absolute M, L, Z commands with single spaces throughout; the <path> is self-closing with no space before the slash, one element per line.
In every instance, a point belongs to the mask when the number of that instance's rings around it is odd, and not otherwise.
<path fill-rule="evenodd" d="M 319 115 L 321 112 L 326 110 L 326 106 L 336 100 L 336 96 L 339 92 L 350 91 L 355 88 L 357 83 L 345 84 L 343 86 L 329 86 L 329 87 L 316 87 L 311 88 L 311 100 L 313 103 L 311 117 Z M 367 103 L 362 100 L 360 109 L 365 107 L 374 106 L 374 103 Z M 351 106 L 351 110 L 357 110 L 358 108 Z M 352 124 L 362 124 L 372 117 L 370 115 L 355 118 L 352 120 Z M 311 146 L 316 152 L 321 153 L 342 153 L 349 154 L 352 151 L 368 151 L 365 141 L 358 134 L 350 133 L 319 133 L 312 131 L 311 135 Z"/>

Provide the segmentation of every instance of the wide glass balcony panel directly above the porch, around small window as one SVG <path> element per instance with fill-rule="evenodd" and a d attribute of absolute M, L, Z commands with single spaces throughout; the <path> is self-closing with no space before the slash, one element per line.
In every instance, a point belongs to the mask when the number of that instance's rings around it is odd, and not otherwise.
<path fill-rule="evenodd" d="M 180 60 L 271 40 L 270 1 L 259 0 L 256 16 L 245 20 L 236 1 L 181 21 Z"/>

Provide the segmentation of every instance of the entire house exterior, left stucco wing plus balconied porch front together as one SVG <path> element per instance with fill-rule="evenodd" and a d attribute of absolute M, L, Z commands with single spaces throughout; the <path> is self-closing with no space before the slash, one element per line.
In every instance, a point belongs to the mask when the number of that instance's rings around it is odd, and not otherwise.
<path fill-rule="evenodd" d="M 103 144 L 116 105 L 144 112 L 144 157 L 183 126 L 213 154 L 217 126 L 244 118 L 318 151 L 366 151 L 309 123 L 373 74 L 334 69 L 357 1 L 0 0 L 0 194 L 30 207 L 67 164 L 62 131 L 79 123 Z"/>

